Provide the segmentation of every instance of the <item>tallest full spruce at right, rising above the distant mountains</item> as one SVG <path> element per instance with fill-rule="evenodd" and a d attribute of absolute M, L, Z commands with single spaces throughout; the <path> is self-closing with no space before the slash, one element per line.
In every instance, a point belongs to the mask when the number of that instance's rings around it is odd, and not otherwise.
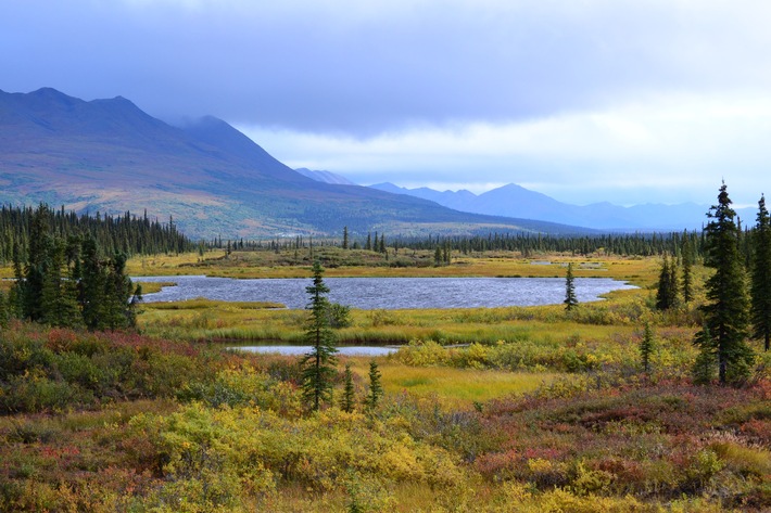
<path fill-rule="evenodd" d="M 708 303 L 702 310 L 711 335 L 700 332 L 694 339 L 703 349 L 705 344 L 715 346 L 721 384 L 746 379 L 754 358 L 746 343 L 749 300 L 737 245 L 736 213 L 731 203 L 723 182 L 705 229 L 705 264 L 715 269 L 715 274 L 706 283 Z"/>

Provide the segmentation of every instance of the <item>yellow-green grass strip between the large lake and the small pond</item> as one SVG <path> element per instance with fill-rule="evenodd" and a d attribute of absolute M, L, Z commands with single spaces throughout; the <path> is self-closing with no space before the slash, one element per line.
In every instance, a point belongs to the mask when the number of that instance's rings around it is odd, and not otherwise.
<path fill-rule="evenodd" d="M 636 330 L 645 308 L 640 291 L 619 292 L 614 302 L 582 305 L 568 315 L 561 306 L 351 311 L 352 324 L 336 332 L 340 344 L 405 344 L 412 339 L 494 344 L 554 341 L 569 336 L 604 339 Z M 156 336 L 185 339 L 275 339 L 303 336 L 304 310 L 276 304 L 206 299 L 142 305 L 139 324 Z"/>

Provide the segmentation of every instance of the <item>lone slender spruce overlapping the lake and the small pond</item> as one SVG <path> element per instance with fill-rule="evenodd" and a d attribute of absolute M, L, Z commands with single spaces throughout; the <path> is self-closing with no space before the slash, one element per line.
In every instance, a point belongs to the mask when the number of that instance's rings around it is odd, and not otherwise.
<path fill-rule="evenodd" d="M 312 411 L 318 411 L 324 402 L 332 398 L 334 379 L 334 336 L 329 328 L 329 287 L 324 283 L 324 269 L 316 260 L 313 264 L 313 284 L 305 287 L 311 296 L 306 309 L 309 310 L 305 342 L 311 345 L 311 352 L 301 361 L 303 368 L 303 399 Z"/>

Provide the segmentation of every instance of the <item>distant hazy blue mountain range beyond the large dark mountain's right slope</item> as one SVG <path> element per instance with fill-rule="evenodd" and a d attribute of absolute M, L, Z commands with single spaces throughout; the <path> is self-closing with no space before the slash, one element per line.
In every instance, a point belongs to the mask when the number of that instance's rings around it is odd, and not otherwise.
<path fill-rule="evenodd" d="M 610 203 L 594 203 L 585 206 L 570 205 L 514 183 L 479 195 L 465 190 L 439 192 L 427 188 L 405 189 L 393 183 L 378 183 L 370 187 L 393 194 L 407 194 L 430 200 L 460 211 L 568 222 L 595 230 L 679 231 L 700 229 L 707 222 L 705 214 L 709 209 L 708 205 L 695 203 L 645 204 L 631 207 Z M 737 209 L 736 211 L 743 219 L 755 219 L 753 208 Z"/>

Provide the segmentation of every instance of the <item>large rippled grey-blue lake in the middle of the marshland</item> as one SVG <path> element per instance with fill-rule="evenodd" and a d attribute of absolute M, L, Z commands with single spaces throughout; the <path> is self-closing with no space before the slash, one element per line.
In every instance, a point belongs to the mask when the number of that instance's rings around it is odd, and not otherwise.
<path fill-rule="evenodd" d="M 305 308 L 309 278 L 250 279 L 135 277 L 134 281 L 175 282 L 144 300 L 179 302 L 204 297 L 225 302 L 270 302 L 288 308 Z M 353 308 L 476 308 L 556 305 L 565 299 L 564 278 L 325 278 L 329 300 Z M 579 303 L 601 300 L 603 294 L 635 288 L 610 278 L 576 278 Z"/>

